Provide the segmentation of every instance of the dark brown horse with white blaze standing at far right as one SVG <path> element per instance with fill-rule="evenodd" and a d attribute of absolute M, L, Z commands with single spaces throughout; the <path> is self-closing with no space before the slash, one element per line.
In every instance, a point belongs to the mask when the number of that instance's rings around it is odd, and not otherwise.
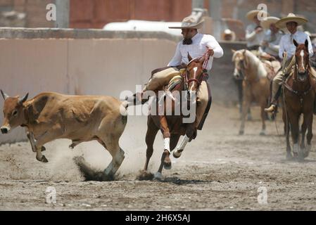
<path fill-rule="evenodd" d="M 292 74 L 283 85 L 284 91 L 284 122 L 286 124 L 286 158 L 291 159 L 291 146 L 289 141 L 289 129 L 293 140 L 293 155 L 298 160 L 303 160 L 310 153 L 312 140 L 312 113 L 315 101 L 315 79 L 312 73 L 315 72 L 310 67 L 308 40 L 305 44 L 298 44 L 293 40 L 296 46 L 295 60 L 296 64 Z M 299 139 L 299 119 L 303 114 L 303 124 L 301 127 L 301 146 L 298 146 Z M 308 129 L 307 146 L 305 148 L 305 133 Z M 301 147 L 301 148 L 300 148 Z"/>

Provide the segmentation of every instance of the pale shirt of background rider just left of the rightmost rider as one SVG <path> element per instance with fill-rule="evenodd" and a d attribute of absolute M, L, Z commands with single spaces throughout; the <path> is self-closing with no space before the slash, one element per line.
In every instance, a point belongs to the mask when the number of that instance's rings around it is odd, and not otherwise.
<path fill-rule="evenodd" d="M 272 33 L 272 31 L 269 29 L 265 32 L 265 38 L 263 41 L 267 41 L 268 46 L 262 47 L 263 51 L 265 53 L 268 53 L 271 56 L 278 56 L 279 55 L 279 49 L 280 49 L 280 41 L 283 37 L 283 33 L 281 31 L 277 33 Z"/>

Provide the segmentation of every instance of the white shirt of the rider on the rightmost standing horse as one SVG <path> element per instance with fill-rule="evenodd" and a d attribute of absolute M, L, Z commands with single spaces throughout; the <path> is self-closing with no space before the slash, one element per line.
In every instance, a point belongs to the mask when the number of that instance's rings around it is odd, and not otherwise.
<path fill-rule="evenodd" d="M 305 40 L 308 39 L 308 53 L 310 54 L 310 57 L 312 57 L 314 53 L 312 52 L 310 37 L 308 34 L 298 30 L 295 34 L 284 34 L 280 41 L 279 58 L 283 58 L 284 51 L 286 51 L 288 59 L 295 55 L 296 46 L 293 44 L 292 37 L 298 44 L 304 44 Z"/>

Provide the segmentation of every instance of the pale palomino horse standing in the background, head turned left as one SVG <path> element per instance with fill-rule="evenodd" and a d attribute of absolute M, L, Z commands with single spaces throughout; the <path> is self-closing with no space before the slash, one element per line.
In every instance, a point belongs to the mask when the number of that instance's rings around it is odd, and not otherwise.
<path fill-rule="evenodd" d="M 263 126 L 260 135 L 265 135 L 265 107 L 270 96 L 270 81 L 267 79 L 267 71 L 263 63 L 251 51 L 242 49 L 239 51 L 233 50 L 233 53 L 234 75 L 240 73 L 244 75 L 244 96 L 239 134 L 244 134 L 246 115 L 251 102 L 255 100 L 261 108 Z"/>

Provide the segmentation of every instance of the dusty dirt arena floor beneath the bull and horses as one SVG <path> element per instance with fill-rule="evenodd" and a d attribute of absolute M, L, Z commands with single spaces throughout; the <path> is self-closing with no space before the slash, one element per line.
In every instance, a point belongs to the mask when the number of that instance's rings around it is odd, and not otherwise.
<path fill-rule="evenodd" d="M 238 108 L 214 104 L 203 131 L 172 159 L 163 181 L 139 181 L 146 158 L 146 117 L 129 117 L 121 145 L 126 157 L 115 181 L 83 181 L 72 158 L 83 155 L 104 169 L 110 155 L 99 143 L 70 141 L 46 145 L 48 164 L 34 160 L 27 142 L 0 146 L 0 210 L 316 210 L 316 140 L 304 162 L 286 161 L 281 115 L 267 122 L 260 136 L 258 107 L 254 120 L 238 135 Z M 314 124 L 314 133 L 316 127 Z M 156 172 L 163 151 L 157 137 L 149 169 Z M 46 188 L 56 189 L 47 204 Z M 267 191 L 267 204 L 258 203 Z M 258 189 L 259 188 L 259 189 Z M 266 188 L 266 189 L 265 189 Z"/>

